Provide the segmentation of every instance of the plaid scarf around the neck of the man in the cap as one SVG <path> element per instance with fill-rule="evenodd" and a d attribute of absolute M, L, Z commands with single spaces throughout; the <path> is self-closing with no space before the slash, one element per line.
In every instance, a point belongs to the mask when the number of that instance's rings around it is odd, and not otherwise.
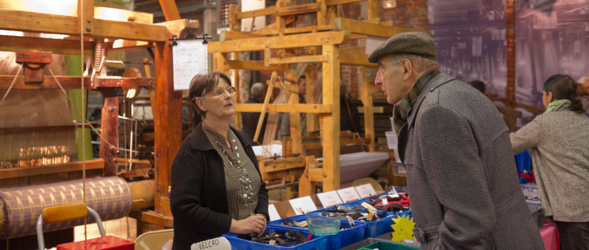
<path fill-rule="evenodd" d="M 438 73 L 440 73 L 438 69 L 429 70 L 421 77 L 419 77 L 411 91 L 409 91 L 409 93 L 405 97 L 403 97 L 401 102 L 397 103 L 393 108 L 393 125 L 395 127 L 395 133 L 397 134 L 397 137 L 399 136 L 399 131 L 401 131 L 403 125 L 407 123 L 407 117 L 409 117 L 409 112 L 411 112 L 413 104 L 415 104 L 415 102 L 417 101 L 417 97 L 419 96 L 419 94 L 421 94 L 423 87 L 425 87 L 425 85 L 428 84 L 430 80 L 432 80 L 436 75 L 438 75 Z"/>

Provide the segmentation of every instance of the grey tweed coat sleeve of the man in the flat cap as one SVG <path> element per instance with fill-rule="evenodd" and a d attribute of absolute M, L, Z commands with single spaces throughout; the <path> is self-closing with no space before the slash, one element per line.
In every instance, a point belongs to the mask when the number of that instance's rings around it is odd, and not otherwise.
<path fill-rule="evenodd" d="M 434 249 L 481 248 L 498 218 L 471 126 L 454 110 L 434 105 L 415 129 L 423 169 L 446 210 Z"/>

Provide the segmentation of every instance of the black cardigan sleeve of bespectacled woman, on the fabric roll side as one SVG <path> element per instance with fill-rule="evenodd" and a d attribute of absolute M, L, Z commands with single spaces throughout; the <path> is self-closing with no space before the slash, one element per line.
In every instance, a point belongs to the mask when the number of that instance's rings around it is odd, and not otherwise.
<path fill-rule="evenodd" d="M 231 215 L 201 205 L 203 174 L 201 154 L 178 152 L 171 169 L 170 205 L 174 221 L 201 234 L 225 234 L 231 227 Z"/>

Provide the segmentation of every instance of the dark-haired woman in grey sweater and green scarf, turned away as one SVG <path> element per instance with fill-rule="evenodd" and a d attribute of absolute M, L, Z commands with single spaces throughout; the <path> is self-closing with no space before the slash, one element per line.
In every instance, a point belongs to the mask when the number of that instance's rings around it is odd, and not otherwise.
<path fill-rule="evenodd" d="M 544 215 L 560 234 L 560 248 L 589 249 L 589 117 L 567 75 L 544 83 L 546 111 L 511 133 L 515 154 L 531 149 Z"/>

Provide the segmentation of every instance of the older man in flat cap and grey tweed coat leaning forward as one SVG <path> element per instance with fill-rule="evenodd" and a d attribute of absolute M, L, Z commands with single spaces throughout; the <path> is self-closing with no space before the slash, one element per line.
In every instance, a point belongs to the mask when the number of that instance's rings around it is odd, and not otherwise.
<path fill-rule="evenodd" d="M 392 36 L 378 63 L 421 249 L 544 249 L 519 187 L 509 130 L 478 90 L 441 73 L 431 36 Z"/>

